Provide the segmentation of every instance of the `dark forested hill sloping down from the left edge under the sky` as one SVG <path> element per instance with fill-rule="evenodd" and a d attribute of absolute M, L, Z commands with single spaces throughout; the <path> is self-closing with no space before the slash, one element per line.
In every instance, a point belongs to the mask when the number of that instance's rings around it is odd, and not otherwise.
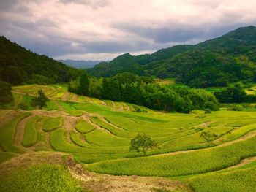
<path fill-rule="evenodd" d="M 18 85 L 28 83 L 68 82 L 80 74 L 78 69 L 38 55 L 0 37 L 0 80 Z"/>

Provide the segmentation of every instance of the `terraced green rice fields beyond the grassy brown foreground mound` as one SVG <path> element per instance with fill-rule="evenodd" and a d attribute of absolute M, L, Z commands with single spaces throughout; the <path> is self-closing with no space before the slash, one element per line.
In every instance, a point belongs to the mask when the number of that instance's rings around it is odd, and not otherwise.
<path fill-rule="evenodd" d="M 73 155 L 90 172 L 168 177 L 194 191 L 256 191 L 256 112 L 132 112 L 132 104 L 70 96 L 61 86 L 43 85 L 15 87 L 15 101 L 39 88 L 49 91 L 50 107 L 0 110 L 0 162 L 55 150 Z M 218 137 L 208 144 L 202 131 Z M 146 157 L 129 150 L 138 133 L 157 142 Z"/>

